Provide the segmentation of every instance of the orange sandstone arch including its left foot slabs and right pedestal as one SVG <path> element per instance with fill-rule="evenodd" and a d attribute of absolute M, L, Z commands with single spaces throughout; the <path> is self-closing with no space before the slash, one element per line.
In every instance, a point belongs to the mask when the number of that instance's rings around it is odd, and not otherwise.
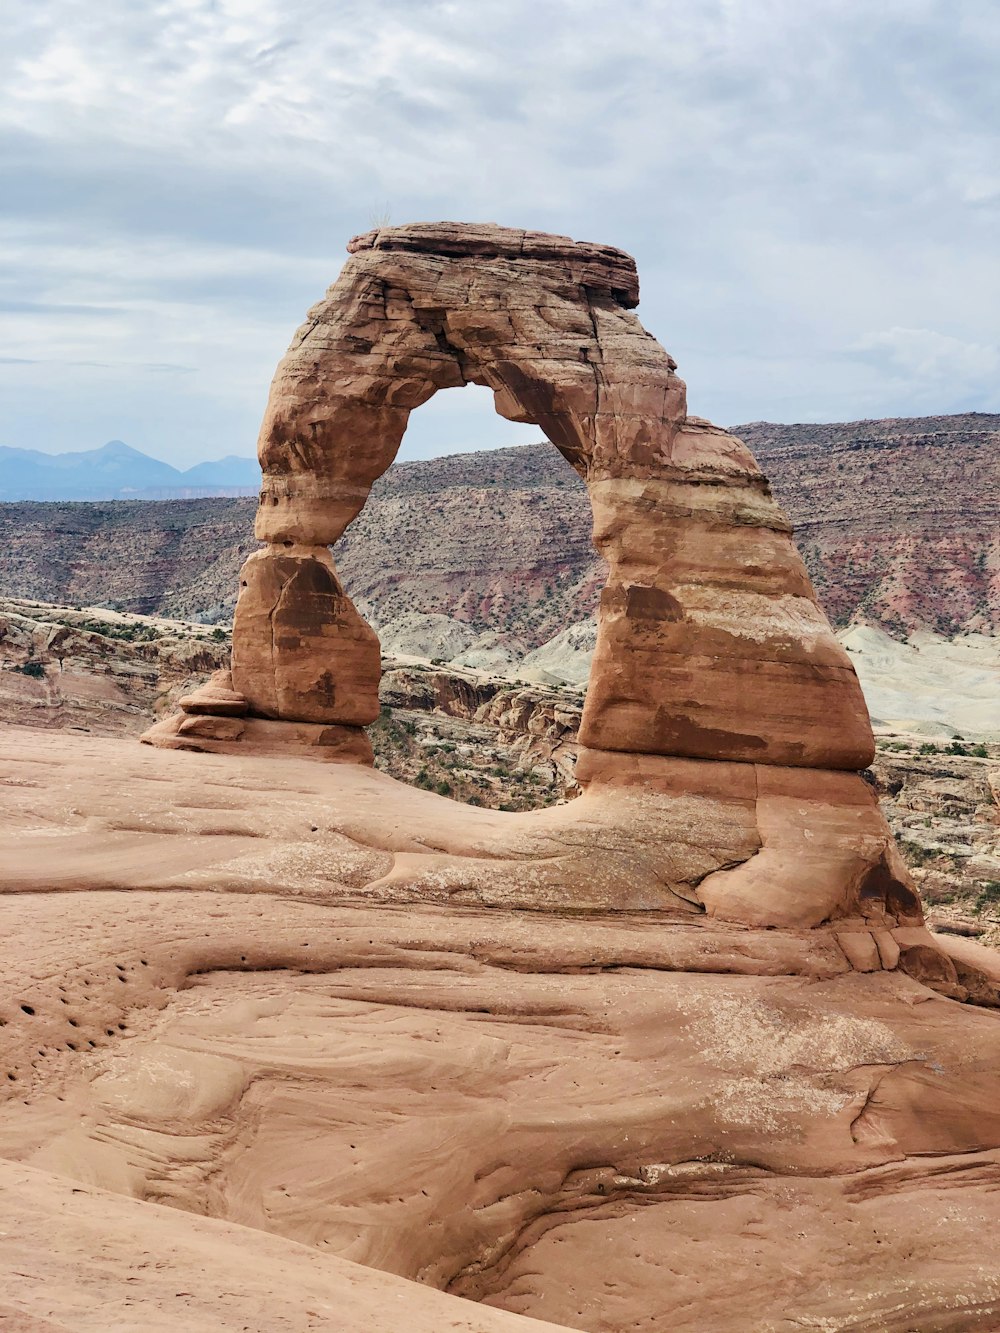
<path fill-rule="evenodd" d="M 392 461 L 409 412 L 475 381 L 584 476 L 609 565 L 580 730 L 585 796 L 557 817 L 580 850 L 536 866 L 517 900 L 768 925 L 919 922 L 857 772 L 875 746 L 853 668 L 749 451 L 687 415 L 675 363 L 632 313 L 632 259 L 444 223 L 384 228 L 348 248 L 271 388 L 264 545 L 240 575 L 232 678 L 181 700 L 183 714 L 145 738 L 372 761 L 363 728 L 379 712 L 379 640 L 329 544 Z M 599 829 L 645 869 L 599 872 L 583 850 Z M 531 856 L 547 836 L 533 829 Z M 509 905 L 519 837 L 491 844 L 491 864 L 451 866 L 448 892 Z M 605 853 L 615 862 L 601 844 Z M 393 892 L 441 890 L 424 857 L 396 857 Z"/>

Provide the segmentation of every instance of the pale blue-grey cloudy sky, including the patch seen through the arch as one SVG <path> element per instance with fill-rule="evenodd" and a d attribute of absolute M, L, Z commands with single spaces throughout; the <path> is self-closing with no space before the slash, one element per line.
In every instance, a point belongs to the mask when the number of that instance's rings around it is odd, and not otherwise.
<path fill-rule="evenodd" d="M 731 425 L 1000 411 L 996 0 L 33 0 L 0 43 L 0 444 L 251 455 L 344 243 L 639 261 Z M 437 395 L 404 456 L 535 439 Z"/>

